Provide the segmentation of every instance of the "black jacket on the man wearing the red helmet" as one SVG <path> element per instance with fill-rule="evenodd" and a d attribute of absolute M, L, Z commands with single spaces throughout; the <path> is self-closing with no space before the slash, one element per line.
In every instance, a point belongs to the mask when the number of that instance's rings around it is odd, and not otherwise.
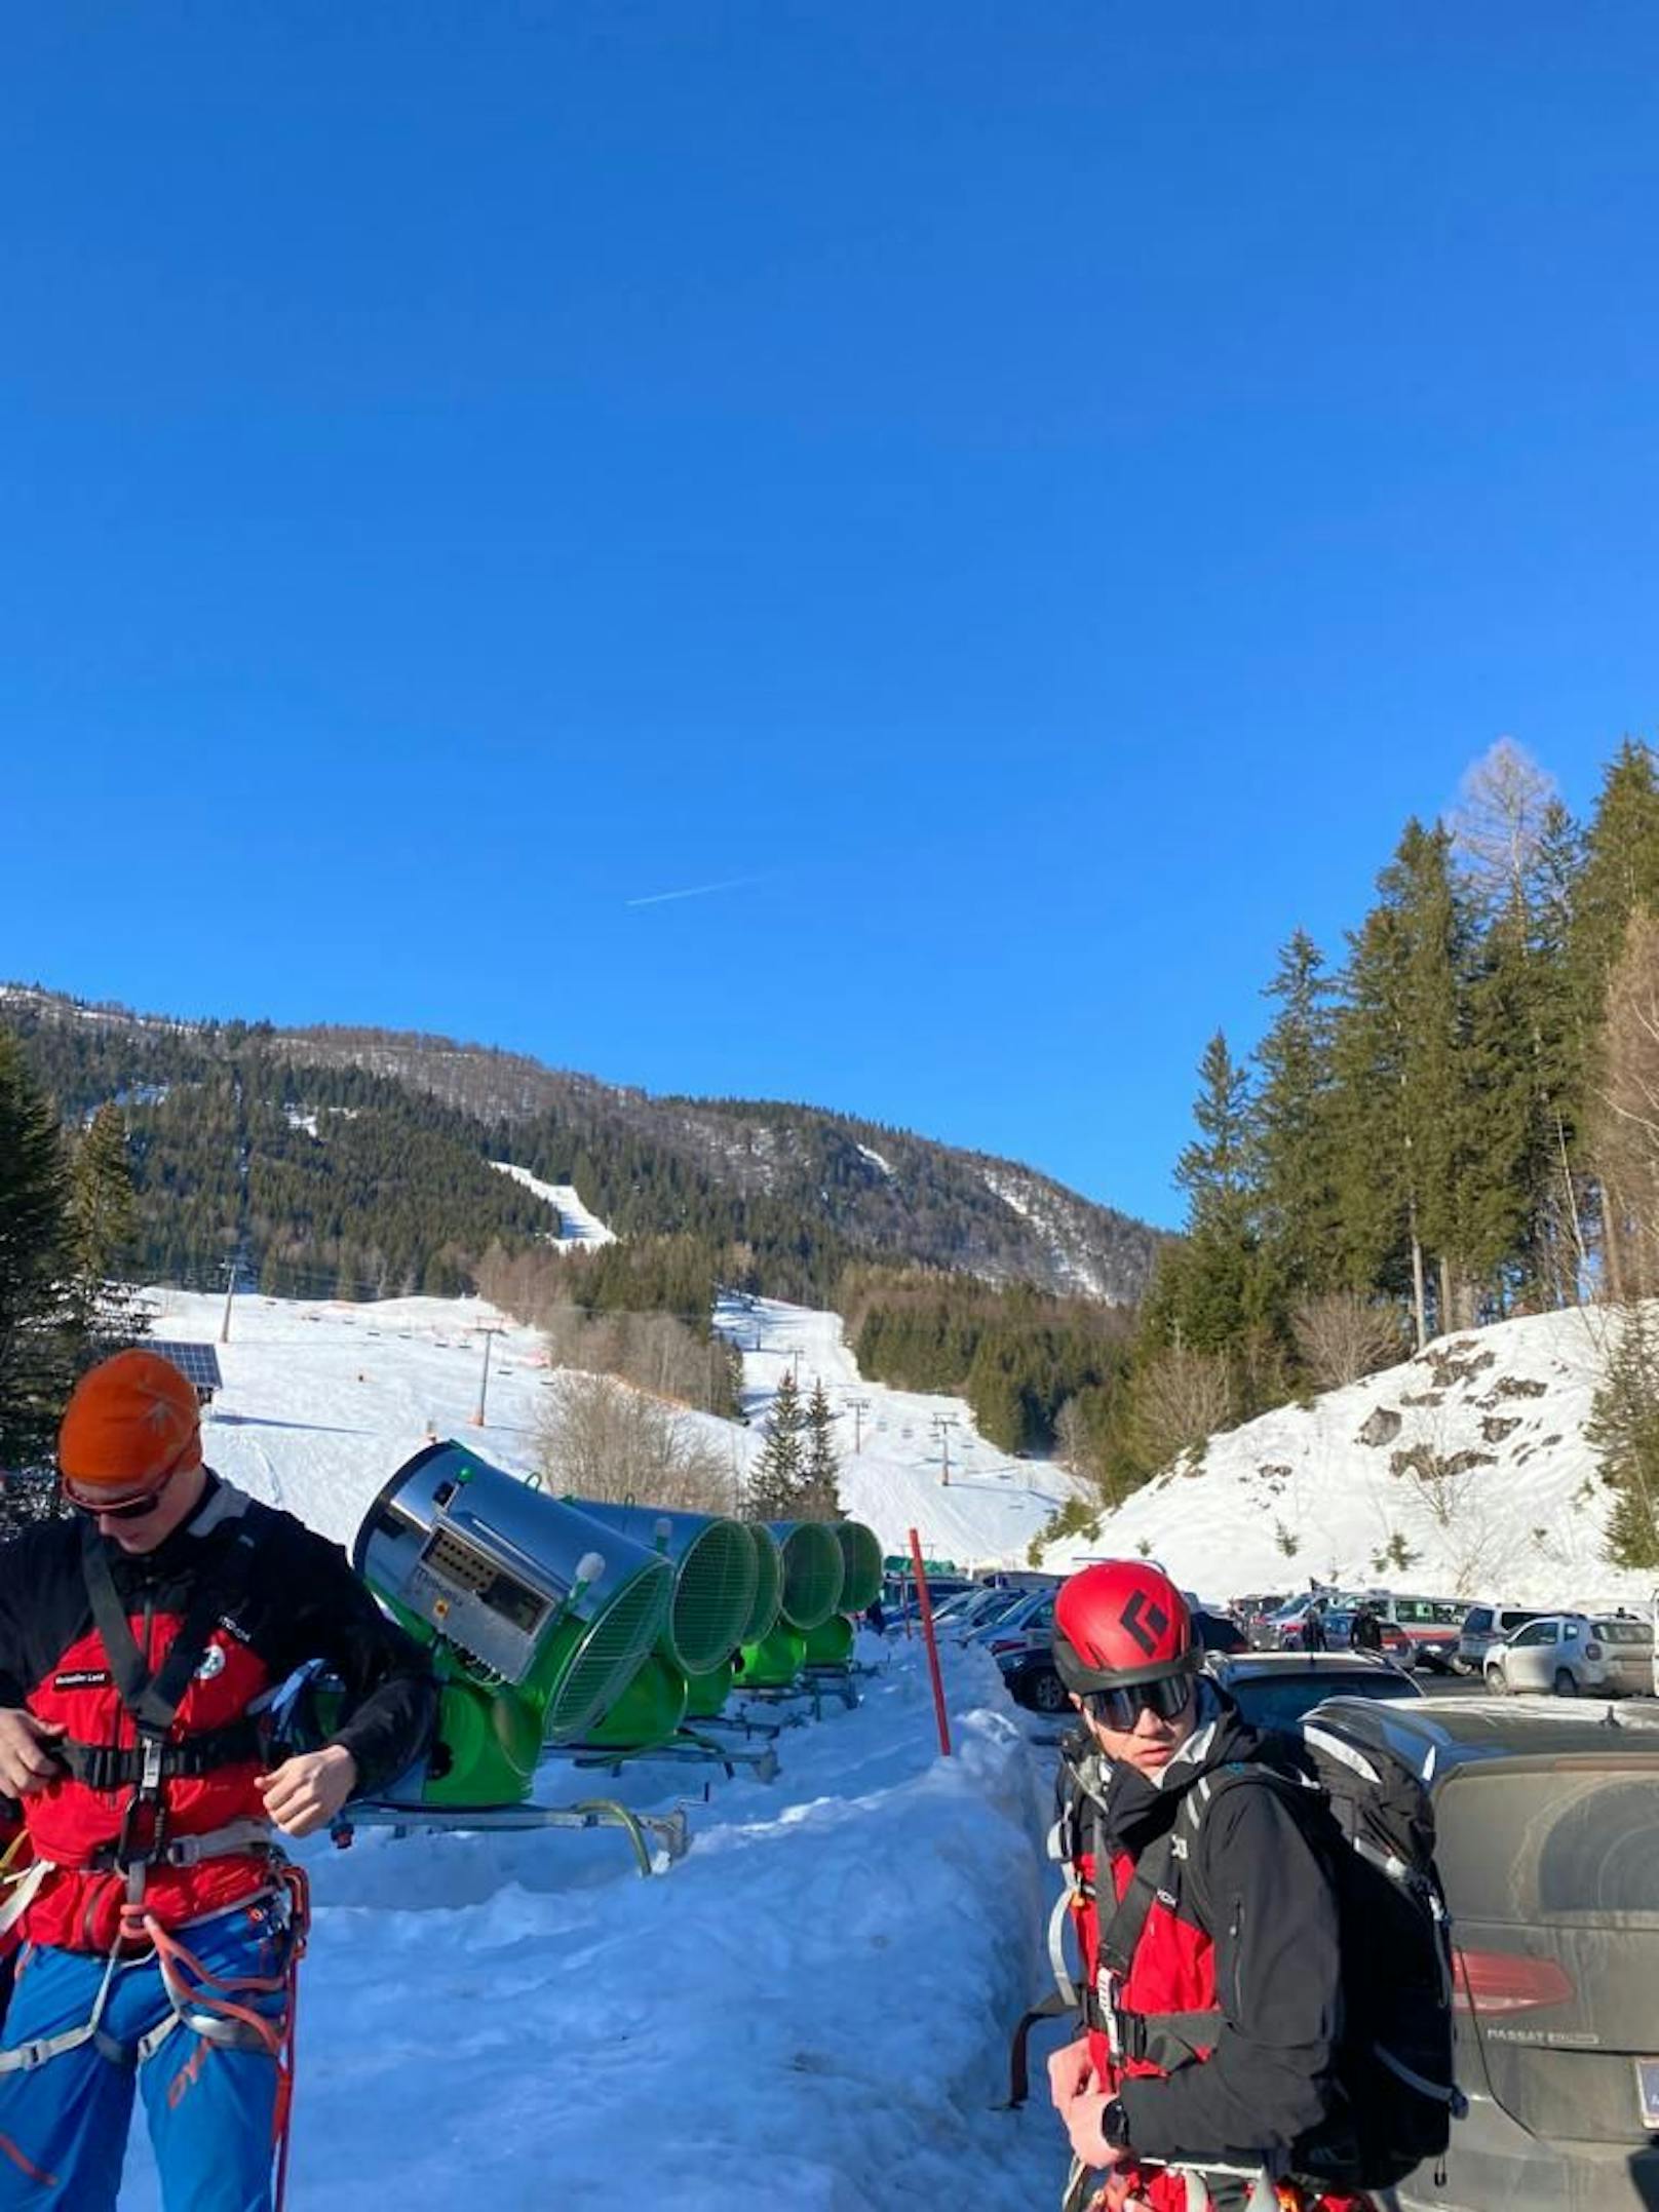
<path fill-rule="evenodd" d="M 1095 1761 L 1097 1836 L 1133 1858 L 1168 1834 L 1188 1792 L 1228 1770 L 1197 1834 L 1181 1820 L 1192 1843 L 1177 1860 L 1179 1913 L 1214 1944 L 1223 2026 L 1208 2059 L 1121 2084 L 1130 2146 L 1150 2159 L 1256 2166 L 1290 2152 L 1336 2104 L 1336 1891 L 1294 1792 L 1250 1774 L 1263 1754 L 1270 1743 L 1203 1683 L 1199 1728 L 1161 1783 Z"/>

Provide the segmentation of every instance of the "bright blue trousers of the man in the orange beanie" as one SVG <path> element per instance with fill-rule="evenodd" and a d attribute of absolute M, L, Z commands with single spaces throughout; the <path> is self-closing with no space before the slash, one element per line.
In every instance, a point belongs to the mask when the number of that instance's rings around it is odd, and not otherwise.
<path fill-rule="evenodd" d="M 181 1929 L 179 1940 L 223 1980 L 283 1973 L 288 1931 L 268 1898 Z M 4 2048 L 82 2026 L 106 1960 L 27 1944 L 4 2022 Z M 206 1984 L 206 1995 L 219 1995 Z M 234 2002 L 281 2020 L 283 1993 Z M 270 2212 L 276 2059 L 208 2042 L 184 2022 L 139 2059 L 137 2044 L 173 2020 L 155 1955 L 115 1969 L 102 2037 L 38 2066 L 0 2070 L 0 2212 L 115 2212 L 133 2090 L 161 2174 L 166 2212 Z"/>

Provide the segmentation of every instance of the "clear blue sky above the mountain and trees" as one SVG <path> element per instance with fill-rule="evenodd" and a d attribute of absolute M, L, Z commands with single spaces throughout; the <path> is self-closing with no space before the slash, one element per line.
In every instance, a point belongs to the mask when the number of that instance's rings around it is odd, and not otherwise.
<path fill-rule="evenodd" d="M 0 975 L 1172 1221 L 1290 929 L 1500 734 L 1579 810 L 1655 734 L 1644 0 L 53 0 L 4 73 Z"/>

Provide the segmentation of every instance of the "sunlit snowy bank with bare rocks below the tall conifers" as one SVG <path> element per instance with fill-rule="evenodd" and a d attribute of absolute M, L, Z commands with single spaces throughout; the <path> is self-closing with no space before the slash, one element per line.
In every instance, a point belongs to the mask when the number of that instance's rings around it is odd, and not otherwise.
<path fill-rule="evenodd" d="M 1655 1577 L 1606 1564 L 1610 1493 L 1584 1442 L 1608 1325 L 1595 1307 L 1504 1321 L 1263 1413 L 1046 1564 L 1146 1551 L 1208 1597 L 1296 1590 L 1312 1575 L 1431 1597 L 1646 1604 Z"/>

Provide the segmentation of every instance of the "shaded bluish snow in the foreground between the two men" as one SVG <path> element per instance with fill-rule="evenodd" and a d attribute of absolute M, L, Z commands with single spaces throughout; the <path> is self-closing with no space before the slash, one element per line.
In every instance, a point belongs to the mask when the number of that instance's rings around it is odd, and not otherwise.
<path fill-rule="evenodd" d="M 949 1699 L 947 1761 L 898 1646 L 856 1712 L 783 1732 L 779 1781 L 714 1781 L 653 1880 L 617 1834 L 301 1845 L 294 2212 L 1053 2203 L 1046 2099 L 995 2108 L 1042 1971 L 1037 1767 L 989 1661 L 956 1655 Z M 139 2146 L 122 2205 L 157 2203 Z"/>

